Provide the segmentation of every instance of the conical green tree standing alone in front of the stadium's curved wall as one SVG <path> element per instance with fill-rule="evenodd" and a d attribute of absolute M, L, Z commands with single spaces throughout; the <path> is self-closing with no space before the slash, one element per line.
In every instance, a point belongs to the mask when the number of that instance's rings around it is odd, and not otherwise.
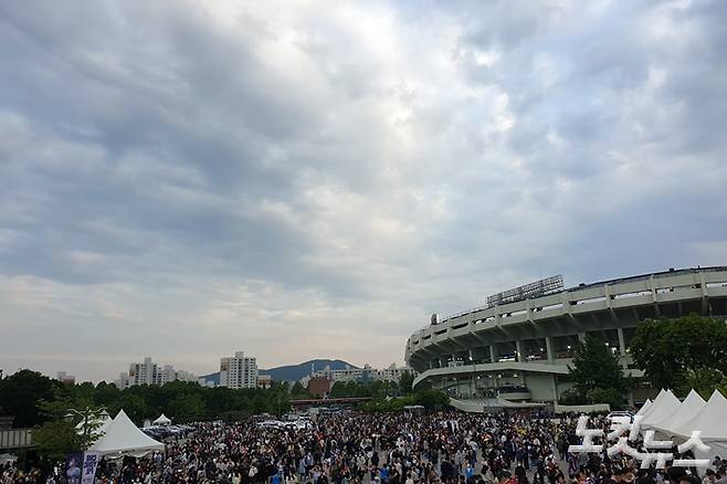
<path fill-rule="evenodd" d="M 608 398 L 611 400 L 608 403 L 619 404 L 630 386 L 618 358 L 602 341 L 593 337 L 588 337 L 584 343 L 578 345 L 573 366 L 568 369 L 576 382 L 576 390 L 584 396 L 589 403 L 605 403 L 607 401 L 596 399 Z M 605 393 L 605 390 L 609 390 L 609 393 Z M 618 398 L 613 398 L 615 394 Z"/>

